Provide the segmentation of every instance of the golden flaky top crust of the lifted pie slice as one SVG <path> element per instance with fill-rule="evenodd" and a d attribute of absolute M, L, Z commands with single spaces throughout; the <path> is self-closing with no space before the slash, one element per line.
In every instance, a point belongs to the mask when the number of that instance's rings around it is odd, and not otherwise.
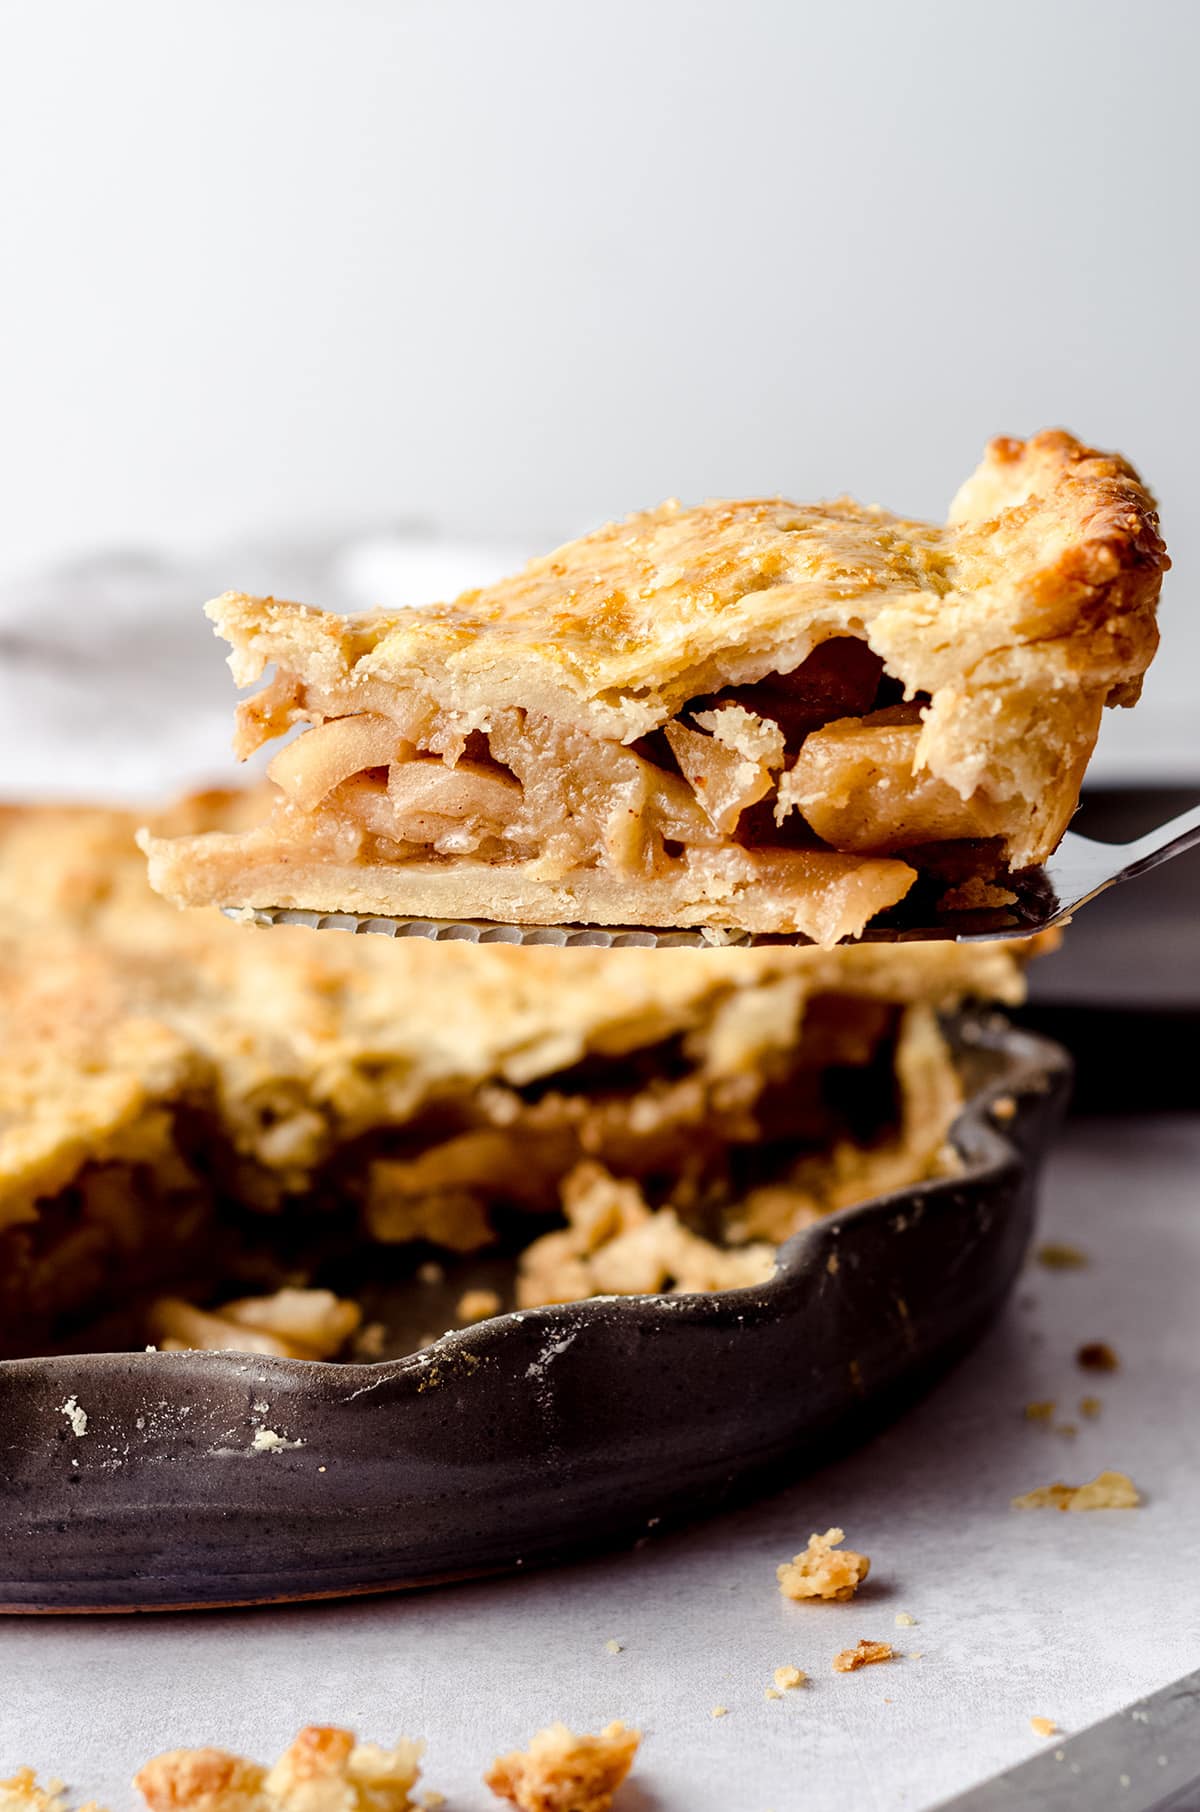
<path fill-rule="evenodd" d="M 932 694 L 919 763 L 966 795 L 963 696 L 1133 703 L 1166 567 L 1133 467 L 1053 429 L 993 440 L 944 527 L 848 498 L 667 502 L 453 603 L 343 618 L 227 593 L 208 614 L 239 685 L 276 661 L 364 696 L 413 687 L 480 727 L 522 705 L 622 741 L 857 634 L 908 694 Z"/>

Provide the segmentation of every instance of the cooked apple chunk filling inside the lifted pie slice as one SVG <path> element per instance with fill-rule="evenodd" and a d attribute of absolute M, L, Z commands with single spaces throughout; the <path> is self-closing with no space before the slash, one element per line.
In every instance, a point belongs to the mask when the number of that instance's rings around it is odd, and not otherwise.
<path fill-rule="evenodd" d="M 624 745 L 513 705 L 480 721 L 370 678 L 277 674 L 241 707 L 237 752 L 308 727 L 270 763 L 276 815 L 241 848 L 276 855 L 276 875 L 489 864 L 562 890 L 584 922 L 622 922 L 624 901 L 631 922 L 689 922 L 700 902 L 692 922 L 836 942 L 908 893 L 912 852 L 953 843 L 984 877 L 1001 861 L 1004 808 L 923 770 L 924 703 L 897 690 L 865 641 L 836 636 Z"/>

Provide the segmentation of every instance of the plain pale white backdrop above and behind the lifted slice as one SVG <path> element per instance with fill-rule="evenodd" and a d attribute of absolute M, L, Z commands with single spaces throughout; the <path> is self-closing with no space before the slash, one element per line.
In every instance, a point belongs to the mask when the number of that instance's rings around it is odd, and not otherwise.
<path fill-rule="evenodd" d="M 665 495 L 935 515 L 1062 422 L 1162 496 L 1173 660 L 1109 741 L 1178 768 L 1198 53 L 1191 0 L 9 5 L 0 576 L 524 553 Z"/>

